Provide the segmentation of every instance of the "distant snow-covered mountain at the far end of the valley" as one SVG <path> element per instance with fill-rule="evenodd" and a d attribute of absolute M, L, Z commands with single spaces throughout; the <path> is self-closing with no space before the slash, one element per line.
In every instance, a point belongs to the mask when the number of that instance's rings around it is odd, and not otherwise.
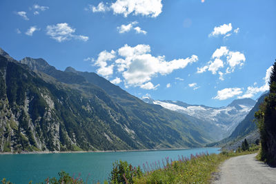
<path fill-rule="evenodd" d="M 219 139 L 229 136 L 256 103 L 253 99 L 237 99 L 226 107 L 212 108 L 206 105 L 190 105 L 182 101 L 155 101 L 149 96 L 143 96 L 142 100 L 195 117 L 202 123 L 215 125 L 220 130 L 217 132 Z"/>

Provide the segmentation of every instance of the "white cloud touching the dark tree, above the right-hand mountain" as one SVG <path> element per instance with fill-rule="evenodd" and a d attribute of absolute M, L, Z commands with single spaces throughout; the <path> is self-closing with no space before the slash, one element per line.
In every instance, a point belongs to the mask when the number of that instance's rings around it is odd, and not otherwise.
<path fill-rule="evenodd" d="M 246 92 L 242 96 L 238 96 L 238 99 L 252 98 L 258 92 L 266 92 L 267 90 L 269 90 L 269 80 L 270 80 L 270 74 L 272 72 L 272 68 L 273 66 L 270 66 L 270 68 L 266 70 L 266 76 L 264 77 L 264 85 L 262 85 L 259 88 L 249 86 Z M 257 83 L 254 83 L 254 85 L 257 85 Z"/>

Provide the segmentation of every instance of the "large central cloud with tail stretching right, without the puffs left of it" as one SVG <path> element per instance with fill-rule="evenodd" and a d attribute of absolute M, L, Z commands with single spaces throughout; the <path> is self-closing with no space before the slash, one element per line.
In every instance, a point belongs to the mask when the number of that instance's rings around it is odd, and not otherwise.
<path fill-rule="evenodd" d="M 139 50 L 138 53 L 137 50 Z M 121 61 L 126 69 L 123 72 L 123 76 L 129 85 L 141 85 L 141 83 L 150 81 L 157 74 L 170 74 L 173 70 L 185 68 L 188 63 L 198 60 L 197 56 L 193 55 L 187 59 L 165 61 L 164 57 L 153 57 L 151 54 L 148 54 L 147 52 L 149 51 L 149 45 L 137 45 L 134 48 L 125 45 L 119 50 L 121 56 L 126 57 L 126 59 Z"/>

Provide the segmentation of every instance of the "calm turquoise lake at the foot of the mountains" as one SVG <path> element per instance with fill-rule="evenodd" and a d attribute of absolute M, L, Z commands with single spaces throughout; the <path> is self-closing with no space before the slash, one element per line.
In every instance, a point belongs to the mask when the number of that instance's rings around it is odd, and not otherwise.
<path fill-rule="evenodd" d="M 44 182 L 49 177 L 57 177 L 61 170 L 70 176 L 79 176 L 88 183 L 108 179 L 112 163 L 116 160 L 128 161 L 133 166 L 143 163 L 162 161 L 166 157 L 178 160 L 179 156 L 208 152 L 219 153 L 219 148 L 203 147 L 185 150 L 162 150 L 143 152 L 101 152 L 101 153 L 68 153 L 68 154 L 13 154 L 0 155 L 0 180 L 6 178 L 12 183 Z"/>

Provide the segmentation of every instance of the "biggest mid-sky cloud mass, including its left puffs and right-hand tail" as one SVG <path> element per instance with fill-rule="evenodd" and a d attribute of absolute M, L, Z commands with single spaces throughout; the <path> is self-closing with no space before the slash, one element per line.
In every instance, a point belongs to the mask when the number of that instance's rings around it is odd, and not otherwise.
<path fill-rule="evenodd" d="M 139 86 L 140 88 L 153 90 L 159 85 L 153 85 L 150 81 L 152 78 L 160 75 L 167 75 L 174 70 L 186 68 L 188 64 L 198 60 L 193 55 L 186 59 L 173 59 L 166 61 L 164 56 L 152 56 L 150 54 L 150 45 L 136 45 L 131 47 L 124 45 L 117 51 L 101 52 L 98 59 L 94 61 L 99 68 L 98 74 L 108 77 L 113 74 L 113 68 L 121 74 L 124 84 L 128 86 Z M 111 61 L 110 64 L 106 61 Z M 179 78 L 180 79 L 180 78 Z"/>

